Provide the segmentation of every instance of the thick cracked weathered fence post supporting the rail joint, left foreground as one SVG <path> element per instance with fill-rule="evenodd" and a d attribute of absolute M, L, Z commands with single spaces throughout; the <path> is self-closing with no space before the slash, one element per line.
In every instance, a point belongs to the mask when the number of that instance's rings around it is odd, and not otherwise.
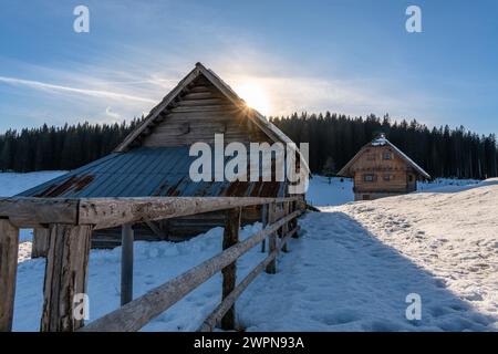
<path fill-rule="evenodd" d="M 43 287 L 42 332 L 72 332 L 83 326 L 75 316 L 76 294 L 86 294 L 91 226 L 50 226 Z"/>

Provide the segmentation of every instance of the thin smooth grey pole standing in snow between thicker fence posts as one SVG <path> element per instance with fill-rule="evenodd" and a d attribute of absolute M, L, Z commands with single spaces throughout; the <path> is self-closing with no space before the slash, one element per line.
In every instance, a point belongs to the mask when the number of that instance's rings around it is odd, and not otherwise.
<path fill-rule="evenodd" d="M 122 226 L 121 247 L 121 305 L 133 300 L 133 241 L 132 225 Z"/>

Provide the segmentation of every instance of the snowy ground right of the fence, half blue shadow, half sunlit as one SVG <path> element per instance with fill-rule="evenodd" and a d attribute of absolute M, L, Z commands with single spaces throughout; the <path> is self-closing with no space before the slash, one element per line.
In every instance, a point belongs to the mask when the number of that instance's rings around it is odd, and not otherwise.
<path fill-rule="evenodd" d="M 280 272 L 239 302 L 247 329 L 497 331 L 498 179 L 435 190 L 308 214 Z"/>

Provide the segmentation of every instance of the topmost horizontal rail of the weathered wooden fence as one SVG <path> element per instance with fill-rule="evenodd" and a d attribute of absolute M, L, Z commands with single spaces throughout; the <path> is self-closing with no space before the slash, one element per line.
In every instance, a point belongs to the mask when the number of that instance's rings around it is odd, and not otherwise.
<path fill-rule="evenodd" d="M 37 225 L 93 225 L 94 230 L 124 223 L 177 218 L 208 211 L 299 200 L 299 197 L 0 198 L 0 219 L 20 228 Z"/>

